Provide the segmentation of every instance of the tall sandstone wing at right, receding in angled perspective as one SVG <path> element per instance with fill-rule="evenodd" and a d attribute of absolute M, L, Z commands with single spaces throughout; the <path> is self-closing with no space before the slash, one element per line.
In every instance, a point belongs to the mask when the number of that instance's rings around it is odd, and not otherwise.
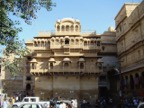
<path fill-rule="evenodd" d="M 115 22 L 120 89 L 129 95 L 144 96 L 144 2 L 124 4 Z"/>

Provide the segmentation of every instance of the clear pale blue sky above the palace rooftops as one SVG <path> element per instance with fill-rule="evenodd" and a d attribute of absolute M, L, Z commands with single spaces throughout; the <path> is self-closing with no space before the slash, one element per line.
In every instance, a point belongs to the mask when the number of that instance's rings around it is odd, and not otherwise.
<path fill-rule="evenodd" d="M 23 31 L 19 33 L 20 39 L 32 40 L 40 31 L 55 30 L 57 19 L 71 17 L 79 19 L 82 31 L 96 30 L 103 33 L 109 26 L 115 27 L 115 16 L 127 2 L 141 2 L 142 0 L 53 0 L 56 7 L 47 12 L 41 9 L 32 25 L 21 21 Z"/>

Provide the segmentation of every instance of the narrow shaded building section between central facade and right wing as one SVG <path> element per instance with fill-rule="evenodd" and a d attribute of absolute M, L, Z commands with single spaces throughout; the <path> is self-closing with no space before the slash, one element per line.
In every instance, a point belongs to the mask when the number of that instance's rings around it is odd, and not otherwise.
<path fill-rule="evenodd" d="M 109 97 L 117 93 L 117 83 L 119 82 L 116 31 L 113 27 L 109 27 L 108 31 L 101 34 L 99 56 L 101 56 L 103 70 L 99 76 L 99 96 Z"/>

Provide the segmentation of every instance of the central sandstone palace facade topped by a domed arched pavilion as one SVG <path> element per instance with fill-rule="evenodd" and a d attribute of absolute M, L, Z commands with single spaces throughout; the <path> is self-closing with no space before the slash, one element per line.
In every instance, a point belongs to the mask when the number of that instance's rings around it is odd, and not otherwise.
<path fill-rule="evenodd" d="M 27 56 L 26 77 L 33 79 L 26 84 L 26 89 L 34 90 L 35 95 L 44 99 L 61 96 L 95 102 L 99 76 L 103 73 L 100 52 L 116 53 L 114 42 L 112 27 L 102 35 L 82 33 L 79 20 L 57 20 L 54 33 L 40 32 L 26 43 L 32 52 Z M 107 88 L 106 83 L 103 85 Z"/>

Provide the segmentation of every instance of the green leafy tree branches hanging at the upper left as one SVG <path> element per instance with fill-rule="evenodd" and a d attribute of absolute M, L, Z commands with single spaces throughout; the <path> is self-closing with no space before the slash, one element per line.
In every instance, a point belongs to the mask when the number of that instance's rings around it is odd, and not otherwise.
<path fill-rule="evenodd" d="M 32 24 L 32 20 L 37 18 L 36 13 L 41 7 L 51 11 L 53 6 L 55 4 L 51 0 L 0 0 L 0 47 L 5 46 L 5 56 L 14 54 L 22 58 L 28 53 L 24 42 L 18 37 L 18 33 L 22 31 L 22 28 L 17 26 L 20 21 L 11 19 L 10 15 L 20 17 L 27 24 Z M 11 72 L 16 71 L 15 61 L 6 65 L 8 60 L 4 60 L 6 68 Z"/>

